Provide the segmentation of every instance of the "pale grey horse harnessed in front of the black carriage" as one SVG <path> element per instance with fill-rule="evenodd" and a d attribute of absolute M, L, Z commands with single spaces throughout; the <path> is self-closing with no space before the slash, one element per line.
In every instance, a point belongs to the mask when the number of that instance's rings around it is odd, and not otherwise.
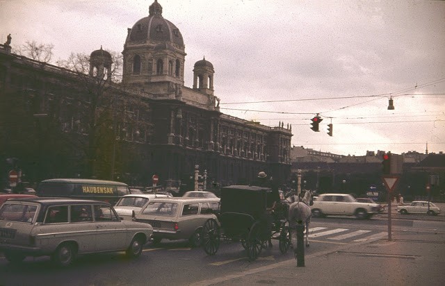
<path fill-rule="evenodd" d="M 306 228 L 306 247 L 309 247 L 309 223 L 311 221 L 312 192 L 307 190 L 305 194 L 300 196 L 291 196 L 288 201 L 294 201 L 289 205 L 289 227 L 291 228 L 291 242 L 293 249 L 297 249 L 296 226 L 297 224 L 305 224 Z"/>

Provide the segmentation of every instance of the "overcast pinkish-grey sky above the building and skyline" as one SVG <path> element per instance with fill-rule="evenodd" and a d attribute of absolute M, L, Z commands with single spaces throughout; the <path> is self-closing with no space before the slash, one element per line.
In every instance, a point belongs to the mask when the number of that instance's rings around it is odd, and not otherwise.
<path fill-rule="evenodd" d="M 53 63 L 121 52 L 153 2 L 0 0 L 1 42 L 54 44 Z M 292 144 L 318 151 L 445 151 L 445 1 L 158 2 L 184 37 L 184 85 L 205 56 L 222 112 L 291 124 Z"/>

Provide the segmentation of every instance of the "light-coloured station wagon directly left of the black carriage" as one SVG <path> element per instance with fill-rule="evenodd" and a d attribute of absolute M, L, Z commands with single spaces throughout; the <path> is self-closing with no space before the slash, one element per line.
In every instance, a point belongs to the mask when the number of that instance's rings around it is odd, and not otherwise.
<path fill-rule="evenodd" d="M 139 213 L 133 212 L 133 220 L 152 225 L 152 242 L 161 239 L 188 239 L 192 246 L 202 244 L 202 226 L 207 219 L 216 219 L 218 198 L 173 197 L 152 199 Z"/>

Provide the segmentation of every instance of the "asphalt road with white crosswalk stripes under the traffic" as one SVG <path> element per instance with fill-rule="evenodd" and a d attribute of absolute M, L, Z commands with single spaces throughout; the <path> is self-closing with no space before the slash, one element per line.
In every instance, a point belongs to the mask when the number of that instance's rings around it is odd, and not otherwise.
<path fill-rule="evenodd" d="M 404 216 L 392 219 L 392 230 L 445 230 L 444 217 Z M 442 220 L 441 220 L 442 218 Z M 334 251 L 339 246 L 366 244 L 387 239 L 387 214 L 369 220 L 350 217 L 313 219 L 306 255 Z M 23 264 L 9 264 L 0 258 L 0 285 L 190 285 L 202 280 L 231 276 L 242 271 L 272 267 L 293 259 L 293 251 L 280 253 L 278 241 L 249 262 L 241 243 L 223 242 L 216 255 L 191 249 L 186 242 L 163 241 L 147 244 L 140 258 L 128 260 L 123 253 L 83 255 L 67 269 L 54 267 L 49 258 L 27 258 Z M 366 257 L 360 259 L 368 259 Z"/>

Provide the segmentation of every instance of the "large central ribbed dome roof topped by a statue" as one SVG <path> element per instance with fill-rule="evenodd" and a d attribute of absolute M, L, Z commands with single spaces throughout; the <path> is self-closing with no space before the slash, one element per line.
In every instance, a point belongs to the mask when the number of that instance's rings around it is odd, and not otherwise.
<path fill-rule="evenodd" d="M 184 40 L 179 29 L 162 17 L 162 6 L 157 0 L 149 6 L 149 15 L 133 25 L 127 43 L 133 42 L 172 42 L 184 48 Z"/>

